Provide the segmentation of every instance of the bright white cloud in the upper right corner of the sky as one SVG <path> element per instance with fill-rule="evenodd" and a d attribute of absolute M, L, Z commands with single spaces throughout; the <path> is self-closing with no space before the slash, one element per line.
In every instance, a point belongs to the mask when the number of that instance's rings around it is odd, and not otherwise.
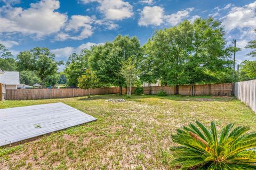
<path fill-rule="evenodd" d="M 242 7 L 233 6 L 228 14 L 223 17 L 223 25 L 227 31 L 235 28 L 255 28 L 256 27 L 256 1 Z"/>

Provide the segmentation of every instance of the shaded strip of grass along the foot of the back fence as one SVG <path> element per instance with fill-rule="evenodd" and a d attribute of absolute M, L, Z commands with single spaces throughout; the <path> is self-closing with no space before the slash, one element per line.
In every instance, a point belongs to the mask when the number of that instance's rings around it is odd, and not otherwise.
<path fill-rule="evenodd" d="M 87 96 L 78 99 L 79 101 L 93 101 L 93 100 L 107 100 L 107 99 L 125 99 L 127 101 L 136 101 L 141 102 L 143 99 L 161 99 L 161 100 L 174 100 L 174 101 L 196 101 L 196 102 L 211 102 L 211 101 L 219 101 L 219 102 L 228 102 L 234 100 L 233 96 L 185 96 L 185 95 L 167 95 L 167 96 L 158 96 L 158 95 L 132 95 L 131 98 L 127 98 L 127 95 L 119 95 L 119 94 L 103 94 L 103 95 L 93 95 L 91 98 L 87 98 Z"/>

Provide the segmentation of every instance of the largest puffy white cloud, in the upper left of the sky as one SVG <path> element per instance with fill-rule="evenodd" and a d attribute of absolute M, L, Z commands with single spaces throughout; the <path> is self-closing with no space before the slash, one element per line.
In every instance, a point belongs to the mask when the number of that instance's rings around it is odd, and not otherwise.
<path fill-rule="evenodd" d="M 43 0 L 31 3 L 28 9 L 2 6 L 0 9 L 0 33 L 36 34 L 37 37 L 57 33 L 67 20 L 59 9 L 57 0 Z"/>

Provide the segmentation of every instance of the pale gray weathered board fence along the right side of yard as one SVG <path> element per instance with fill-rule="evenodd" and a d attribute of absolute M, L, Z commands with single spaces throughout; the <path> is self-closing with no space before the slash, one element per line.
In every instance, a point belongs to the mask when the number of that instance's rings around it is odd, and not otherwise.
<path fill-rule="evenodd" d="M 256 112 L 256 79 L 235 83 L 234 94 Z"/>

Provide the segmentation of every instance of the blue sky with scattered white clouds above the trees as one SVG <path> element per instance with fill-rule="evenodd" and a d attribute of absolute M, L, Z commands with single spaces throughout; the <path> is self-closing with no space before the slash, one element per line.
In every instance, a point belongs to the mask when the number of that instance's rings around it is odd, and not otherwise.
<path fill-rule="evenodd" d="M 243 48 L 256 39 L 256 1 L 0 0 L 0 43 L 14 55 L 39 46 L 66 60 L 118 34 L 137 36 L 143 45 L 155 30 L 210 16 L 222 22 L 228 43 L 235 38 Z M 246 53 L 238 52 L 237 63 L 255 60 Z"/>

